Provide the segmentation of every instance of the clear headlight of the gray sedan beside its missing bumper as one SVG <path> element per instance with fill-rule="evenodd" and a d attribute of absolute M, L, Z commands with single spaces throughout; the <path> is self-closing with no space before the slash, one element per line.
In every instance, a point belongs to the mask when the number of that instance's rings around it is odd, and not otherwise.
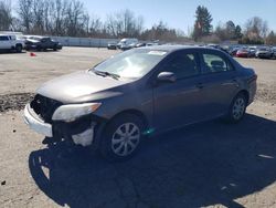
<path fill-rule="evenodd" d="M 55 110 L 52 119 L 53 121 L 64 121 L 73 122 L 78 117 L 88 115 L 95 112 L 102 103 L 85 103 L 85 104 L 71 104 L 62 105 Z"/>

